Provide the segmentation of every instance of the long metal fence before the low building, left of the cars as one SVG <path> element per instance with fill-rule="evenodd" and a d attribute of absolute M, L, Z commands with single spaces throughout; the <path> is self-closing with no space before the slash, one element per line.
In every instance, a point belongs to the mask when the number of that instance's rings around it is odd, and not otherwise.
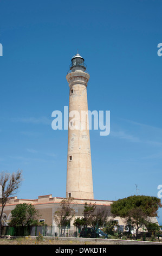
<path fill-rule="evenodd" d="M 57 226 L 35 226 L 35 227 L 10 227 L 2 228 L 2 235 L 11 236 L 66 236 L 79 237 L 79 232 L 75 227 L 57 227 Z"/>

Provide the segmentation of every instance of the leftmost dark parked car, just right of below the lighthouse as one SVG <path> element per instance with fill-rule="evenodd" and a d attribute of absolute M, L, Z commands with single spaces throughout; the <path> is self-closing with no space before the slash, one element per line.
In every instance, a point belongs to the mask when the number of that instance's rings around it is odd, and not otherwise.
<path fill-rule="evenodd" d="M 103 233 L 101 229 L 95 231 L 93 228 L 82 228 L 79 237 L 108 238 L 108 235 Z"/>

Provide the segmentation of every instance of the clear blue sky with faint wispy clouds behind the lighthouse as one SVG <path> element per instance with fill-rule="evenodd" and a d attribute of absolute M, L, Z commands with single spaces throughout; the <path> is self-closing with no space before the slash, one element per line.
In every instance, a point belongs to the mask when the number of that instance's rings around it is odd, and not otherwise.
<path fill-rule="evenodd" d="M 161 1 L 0 1 L 0 169 L 23 170 L 18 198 L 66 196 L 68 131 L 51 113 L 68 106 L 79 50 L 88 108 L 111 112 L 90 131 L 94 198 L 157 196 L 162 184 Z M 138 185 L 136 191 L 135 184 Z M 162 224 L 162 210 L 159 210 Z"/>

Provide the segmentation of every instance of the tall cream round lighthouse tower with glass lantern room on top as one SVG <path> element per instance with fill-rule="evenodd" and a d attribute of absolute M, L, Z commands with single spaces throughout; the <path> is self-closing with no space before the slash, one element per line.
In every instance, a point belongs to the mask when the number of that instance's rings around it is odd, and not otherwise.
<path fill-rule="evenodd" d="M 66 197 L 93 199 L 85 60 L 77 53 L 66 76 L 69 83 L 69 129 Z M 82 118 L 82 113 L 87 113 Z"/>

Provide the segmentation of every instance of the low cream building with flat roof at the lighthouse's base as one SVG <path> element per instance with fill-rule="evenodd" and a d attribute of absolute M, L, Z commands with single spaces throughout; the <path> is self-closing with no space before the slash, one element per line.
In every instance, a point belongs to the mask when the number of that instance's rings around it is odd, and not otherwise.
<path fill-rule="evenodd" d="M 5 220 L 7 223 L 9 223 L 9 221 L 11 220 L 11 210 L 13 210 L 17 204 L 31 203 L 35 206 L 35 208 L 39 211 L 41 215 L 40 217 L 38 217 L 38 220 L 44 220 L 44 222 L 47 225 L 56 225 L 54 222 L 54 214 L 55 214 L 55 211 L 57 211 L 57 209 L 60 208 L 60 203 L 63 199 L 65 198 L 52 197 L 51 194 L 47 196 L 40 196 L 38 197 L 38 199 L 34 199 L 34 200 L 17 199 L 17 197 L 11 197 L 9 198 L 9 202 L 5 205 L 5 208 L 3 211 Z M 108 210 L 108 220 L 111 220 L 113 218 L 111 215 L 111 204 L 113 203 L 112 201 L 74 199 L 72 206 L 73 206 L 73 209 L 75 210 L 75 216 L 70 223 L 71 226 L 73 226 L 75 218 L 77 217 L 81 218 L 83 216 L 84 205 L 86 202 L 87 204 L 95 203 L 96 209 L 106 207 Z M 1 205 L 0 205 L 0 212 L 1 212 Z M 124 225 L 124 226 L 126 225 L 123 218 L 115 217 L 113 219 L 117 220 L 119 225 Z M 157 218 L 156 217 L 152 218 L 152 222 L 158 223 Z"/>

